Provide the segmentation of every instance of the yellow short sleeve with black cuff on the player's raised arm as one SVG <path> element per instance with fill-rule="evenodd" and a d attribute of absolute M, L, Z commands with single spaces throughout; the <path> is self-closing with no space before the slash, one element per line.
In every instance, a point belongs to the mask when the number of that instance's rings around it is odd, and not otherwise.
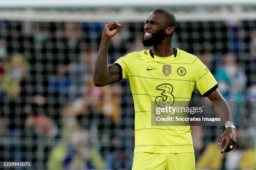
<path fill-rule="evenodd" d="M 118 58 L 118 60 L 113 63 L 119 67 L 120 80 L 128 78 L 131 75 L 131 58 L 133 55 L 133 53 L 129 53 L 123 57 Z"/>

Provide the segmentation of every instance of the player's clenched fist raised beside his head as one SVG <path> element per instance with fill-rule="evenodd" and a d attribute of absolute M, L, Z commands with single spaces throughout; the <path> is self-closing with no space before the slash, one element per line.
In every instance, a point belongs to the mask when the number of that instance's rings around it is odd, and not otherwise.
<path fill-rule="evenodd" d="M 105 22 L 102 36 L 113 37 L 120 30 L 121 25 L 117 22 Z"/>

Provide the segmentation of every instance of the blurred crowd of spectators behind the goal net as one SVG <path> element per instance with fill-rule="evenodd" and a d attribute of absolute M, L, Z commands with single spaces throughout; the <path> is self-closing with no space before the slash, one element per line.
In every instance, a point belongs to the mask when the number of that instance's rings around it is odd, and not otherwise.
<path fill-rule="evenodd" d="M 128 80 L 92 82 L 102 26 L 0 21 L 1 161 L 32 161 L 33 169 L 131 169 Z M 143 23 L 123 23 L 108 62 L 143 50 L 142 36 Z M 256 101 L 256 21 L 178 23 L 173 43 L 207 65 L 226 100 Z M 192 99 L 207 102 L 197 91 Z M 197 168 L 255 168 L 256 110 L 244 103 L 251 108 L 246 116 L 232 108 L 232 153 L 221 155 L 217 145 L 225 127 L 191 127 Z"/>

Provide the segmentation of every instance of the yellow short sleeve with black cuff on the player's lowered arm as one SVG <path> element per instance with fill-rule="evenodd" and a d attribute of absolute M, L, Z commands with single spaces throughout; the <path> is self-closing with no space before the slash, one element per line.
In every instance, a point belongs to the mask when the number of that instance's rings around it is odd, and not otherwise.
<path fill-rule="evenodd" d="M 194 68 L 196 72 L 195 86 L 202 96 L 207 97 L 218 88 L 218 82 L 210 70 L 198 58 L 195 60 Z"/>

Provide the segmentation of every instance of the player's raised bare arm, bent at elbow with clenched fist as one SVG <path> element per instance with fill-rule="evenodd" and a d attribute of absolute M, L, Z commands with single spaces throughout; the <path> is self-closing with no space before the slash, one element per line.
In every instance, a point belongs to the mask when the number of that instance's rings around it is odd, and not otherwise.
<path fill-rule="evenodd" d="M 117 22 L 105 23 L 104 25 L 93 75 L 93 82 L 96 86 L 105 86 L 120 79 L 118 66 L 114 64 L 108 65 L 107 63 L 110 39 L 118 33 L 120 27 L 121 25 Z"/>

